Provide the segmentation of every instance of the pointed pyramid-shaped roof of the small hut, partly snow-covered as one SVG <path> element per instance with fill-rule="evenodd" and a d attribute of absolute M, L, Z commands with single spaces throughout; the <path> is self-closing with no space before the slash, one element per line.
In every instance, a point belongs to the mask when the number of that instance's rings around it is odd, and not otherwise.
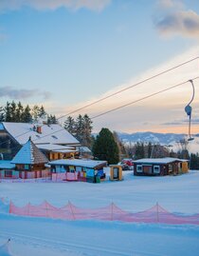
<path fill-rule="evenodd" d="M 33 142 L 29 139 L 27 143 L 18 151 L 15 157 L 12 159 L 12 164 L 45 164 L 48 160 L 45 154 L 37 148 Z"/>

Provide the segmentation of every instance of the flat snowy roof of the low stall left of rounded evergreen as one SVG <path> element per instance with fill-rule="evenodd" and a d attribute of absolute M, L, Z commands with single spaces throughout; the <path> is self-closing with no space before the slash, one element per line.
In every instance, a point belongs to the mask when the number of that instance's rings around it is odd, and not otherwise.
<path fill-rule="evenodd" d="M 94 168 L 100 165 L 105 165 L 106 163 L 107 163 L 106 161 L 97 161 L 97 160 L 60 159 L 60 160 L 49 162 L 49 165 Z"/>

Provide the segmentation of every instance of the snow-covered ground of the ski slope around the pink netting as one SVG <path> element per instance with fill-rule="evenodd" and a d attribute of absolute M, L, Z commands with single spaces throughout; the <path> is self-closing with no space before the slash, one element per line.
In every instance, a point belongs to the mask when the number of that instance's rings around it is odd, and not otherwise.
<path fill-rule="evenodd" d="M 156 202 L 169 211 L 199 213 L 199 171 L 165 177 L 135 177 L 125 171 L 122 182 L 0 183 L 0 197 L 17 206 L 47 200 L 61 207 L 105 207 L 114 202 L 137 212 Z M 9 206 L 9 205 L 8 205 Z M 199 255 L 199 226 L 133 224 L 106 221 L 62 221 L 9 215 L 0 205 L 0 245 L 16 256 Z"/>

